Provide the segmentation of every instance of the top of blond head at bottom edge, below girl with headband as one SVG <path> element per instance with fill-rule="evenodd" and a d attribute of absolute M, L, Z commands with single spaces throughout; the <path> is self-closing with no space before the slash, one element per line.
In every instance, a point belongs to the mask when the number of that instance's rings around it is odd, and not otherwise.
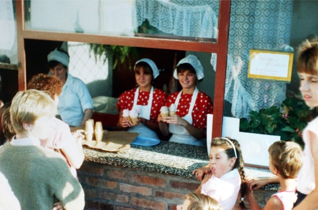
<path fill-rule="evenodd" d="M 189 193 L 184 196 L 184 199 L 189 200 L 187 210 L 222 210 L 219 203 L 210 196 L 199 193 Z"/>

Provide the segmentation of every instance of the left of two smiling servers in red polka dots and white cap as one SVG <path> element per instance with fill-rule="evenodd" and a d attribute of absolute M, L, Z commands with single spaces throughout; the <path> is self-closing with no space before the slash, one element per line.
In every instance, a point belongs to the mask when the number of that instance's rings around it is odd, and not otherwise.
<path fill-rule="evenodd" d="M 167 98 L 163 90 L 154 88 L 152 84 L 159 75 L 159 70 L 152 60 L 144 58 L 136 62 L 134 72 L 138 87 L 119 96 L 117 109 L 120 113 L 117 128 L 139 133 L 140 137 L 159 139 L 157 118 L 160 107 L 165 104 Z M 139 110 L 137 125 L 123 117 L 123 111 L 127 109 Z"/>

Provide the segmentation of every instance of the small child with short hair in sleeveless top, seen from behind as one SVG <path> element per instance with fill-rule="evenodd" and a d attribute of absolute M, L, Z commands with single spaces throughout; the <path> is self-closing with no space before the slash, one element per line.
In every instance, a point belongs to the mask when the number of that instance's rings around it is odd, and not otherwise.
<path fill-rule="evenodd" d="M 268 152 L 269 169 L 278 177 L 281 189 L 271 196 L 263 210 L 291 210 L 297 199 L 296 177 L 303 165 L 302 149 L 292 141 L 276 141 Z M 246 191 L 246 199 L 251 210 L 261 210 L 252 191 Z"/>

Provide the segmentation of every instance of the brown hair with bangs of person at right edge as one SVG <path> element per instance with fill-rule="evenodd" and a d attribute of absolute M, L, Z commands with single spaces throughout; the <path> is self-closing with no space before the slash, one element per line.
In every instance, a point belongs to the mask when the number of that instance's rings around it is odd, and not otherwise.
<path fill-rule="evenodd" d="M 298 49 L 297 70 L 318 75 L 318 39 L 305 40 Z"/>

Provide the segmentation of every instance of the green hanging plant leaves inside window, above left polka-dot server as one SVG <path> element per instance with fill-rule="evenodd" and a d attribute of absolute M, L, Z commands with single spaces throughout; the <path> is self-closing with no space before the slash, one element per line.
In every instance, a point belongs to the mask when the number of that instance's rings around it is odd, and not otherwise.
<path fill-rule="evenodd" d="M 135 47 L 128 46 L 117 46 L 117 45 L 101 45 L 101 44 L 90 44 L 89 51 L 94 53 L 95 60 L 97 58 L 103 60 L 105 63 L 109 56 L 113 58 L 113 69 L 118 64 L 126 65 L 129 64 L 129 70 L 132 70 L 132 60 L 138 57 L 137 49 Z"/>

